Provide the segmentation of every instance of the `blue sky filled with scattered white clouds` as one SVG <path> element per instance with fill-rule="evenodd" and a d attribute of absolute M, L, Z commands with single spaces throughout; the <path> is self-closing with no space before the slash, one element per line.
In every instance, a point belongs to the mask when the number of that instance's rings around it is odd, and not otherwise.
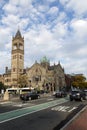
<path fill-rule="evenodd" d="M 24 36 L 24 66 L 46 56 L 87 78 L 87 0 L 0 0 L 0 74 L 11 68 L 12 37 Z"/>

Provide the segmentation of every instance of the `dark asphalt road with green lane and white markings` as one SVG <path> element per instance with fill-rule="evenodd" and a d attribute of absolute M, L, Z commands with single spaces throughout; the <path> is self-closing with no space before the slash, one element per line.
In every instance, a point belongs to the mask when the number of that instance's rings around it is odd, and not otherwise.
<path fill-rule="evenodd" d="M 52 97 L 0 104 L 0 130 L 60 130 L 85 104 Z"/>

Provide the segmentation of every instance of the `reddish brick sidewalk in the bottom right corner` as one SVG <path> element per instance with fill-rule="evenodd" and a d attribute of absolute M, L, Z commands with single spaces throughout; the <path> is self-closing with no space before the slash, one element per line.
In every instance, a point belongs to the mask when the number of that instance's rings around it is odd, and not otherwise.
<path fill-rule="evenodd" d="M 87 106 L 62 130 L 87 130 Z"/>

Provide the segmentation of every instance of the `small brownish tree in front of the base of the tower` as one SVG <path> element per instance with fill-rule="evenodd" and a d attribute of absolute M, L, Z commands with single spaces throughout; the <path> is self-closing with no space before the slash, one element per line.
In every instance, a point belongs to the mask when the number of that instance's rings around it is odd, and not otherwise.
<path fill-rule="evenodd" d="M 28 86 L 28 78 L 26 75 L 20 75 L 18 79 L 19 87 L 27 87 Z"/>

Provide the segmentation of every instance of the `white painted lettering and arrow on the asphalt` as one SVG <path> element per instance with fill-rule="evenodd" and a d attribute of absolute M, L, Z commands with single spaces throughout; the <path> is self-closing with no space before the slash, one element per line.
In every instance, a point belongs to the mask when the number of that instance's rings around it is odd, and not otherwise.
<path fill-rule="evenodd" d="M 77 107 L 70 107 L 70 106 L 56 106 L 51 108 L 53 111 L 61 111 L 61 112 L 72 112 L 73 110 L 77 109 Z"/>

